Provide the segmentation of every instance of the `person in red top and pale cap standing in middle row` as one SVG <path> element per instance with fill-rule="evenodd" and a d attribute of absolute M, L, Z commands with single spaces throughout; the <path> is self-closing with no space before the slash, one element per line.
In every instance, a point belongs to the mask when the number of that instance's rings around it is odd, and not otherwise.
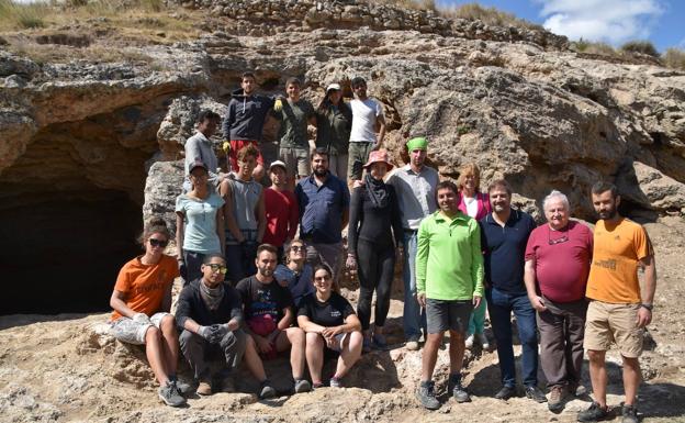
<path fill-rule="evenodd" d="M 297 231 L 297 199 L 288 189 L 285 164 L 276 160 L 269 167 L 271 187 L 265 190 L 265 208 L 267 212 L 267 229 L 263 242 L 274 245 L 279 249 L 279 260 L 283 258 L 283 245 L 295 236 Z"/>

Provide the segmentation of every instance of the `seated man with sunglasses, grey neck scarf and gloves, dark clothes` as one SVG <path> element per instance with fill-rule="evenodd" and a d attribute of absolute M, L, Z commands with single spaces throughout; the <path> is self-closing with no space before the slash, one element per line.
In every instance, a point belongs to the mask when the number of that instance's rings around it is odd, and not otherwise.
<path fill-rule="evenodd" d="M 176 318 L 182 331 L 181 350 L 199 381 L 198 393 L 212 393 L 212 377 L 206 358 L 218 353 L 226 368 L 220 372 L 223 390 L 233 391 L 231 370 L 237 368 L 245 352 L 240 296 L 224 282 L 226 261 L 218 254 L 207 255 L 202 278 L 186 286 L 178 299 Z"/>

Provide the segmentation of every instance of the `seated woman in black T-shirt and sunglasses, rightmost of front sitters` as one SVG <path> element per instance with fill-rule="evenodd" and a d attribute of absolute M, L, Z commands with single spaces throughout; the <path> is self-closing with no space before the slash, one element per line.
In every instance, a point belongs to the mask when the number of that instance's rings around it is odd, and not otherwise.
<path fill-rule="evenodd" d="M 333 291 L 333 274 L 325 265 L 314 269 L 316 292 L 306 296 L 297 312 L 297 324 L 306 332 L 306 359 L 314 388 L 321 387 L 326 353 L 339 354 L 330 387 L 339 388 L 340 379 L 361 356 L 363 336 L 355 309 Z"/>

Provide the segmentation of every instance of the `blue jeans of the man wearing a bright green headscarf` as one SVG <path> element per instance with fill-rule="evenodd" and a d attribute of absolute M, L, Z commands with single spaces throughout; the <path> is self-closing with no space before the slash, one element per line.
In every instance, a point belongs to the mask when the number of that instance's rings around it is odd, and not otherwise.
<path fill-rule="evenodd" d="M 416 301 L 416 231 L 404 231 L 404 337 L 407 341 L 418 341 L 422 329 L 426 332 L 426 311 L 422 310 Z"/>

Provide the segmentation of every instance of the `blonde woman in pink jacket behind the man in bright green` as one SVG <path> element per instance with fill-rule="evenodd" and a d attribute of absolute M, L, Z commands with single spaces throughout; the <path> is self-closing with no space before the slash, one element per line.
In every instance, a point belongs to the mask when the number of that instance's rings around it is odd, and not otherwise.
<path fill-rule="evenodd" d="M 459 187 L 459 210 L 476 221 L 480 221 L 492 211 L 490 208 L 490 198 L 486 193 L 480 191 L 480 183 L 481 170 L 474 163 L 469 163 L 459 169 L 459 178 L 457 179 L 457 186 Z M 467 348 L 473 347 L 473 337 L 475 334 L 483 349 L 490 349 L 490 343 L 483 333 L 486 308 L 485 299 L 483 299 L 479 308 L 471 313 L 467 333 Z"/>

